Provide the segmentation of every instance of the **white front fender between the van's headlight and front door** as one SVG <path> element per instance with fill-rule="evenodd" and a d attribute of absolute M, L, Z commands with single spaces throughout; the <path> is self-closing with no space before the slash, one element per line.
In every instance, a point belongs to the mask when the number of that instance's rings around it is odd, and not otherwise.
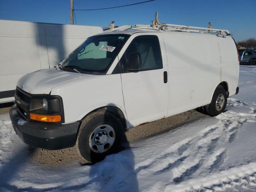
<path fill-rule="evenodd" d="M 65 123 L 80 121 L 102 106 L 117 106 L 124 112 L 124 98 L 120 74 L 90 75 L 58 84 L 52 95 L 62 97 Z"/>

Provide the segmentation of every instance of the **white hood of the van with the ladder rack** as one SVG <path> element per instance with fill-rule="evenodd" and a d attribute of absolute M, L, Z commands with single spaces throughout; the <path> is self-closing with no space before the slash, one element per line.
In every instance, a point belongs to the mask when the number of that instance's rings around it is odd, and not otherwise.
<path fill-rule="evenodd" d="M 42 69 L 22 76 L 18 80 L 17 86 L 31 94 L 49 94 L 51 89 L 58 84 L 86 76 L 90 76 L 90 74 L 61 71 L 54 68 Z"/>

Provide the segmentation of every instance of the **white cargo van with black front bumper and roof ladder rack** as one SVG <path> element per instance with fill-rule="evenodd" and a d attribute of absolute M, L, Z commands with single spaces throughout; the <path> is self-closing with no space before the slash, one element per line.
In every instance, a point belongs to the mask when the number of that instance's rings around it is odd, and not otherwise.
<path fill-rule="evenodd" d="M 238 93 L 239 74 L 234 40 L 216 31 L 135 26 L 89 37 L 60 70 L 20 78 L 14 130 L 32 146 L 76 146 L 97 162 L 130 127 L 200 106 L 216 116 Z"/>

